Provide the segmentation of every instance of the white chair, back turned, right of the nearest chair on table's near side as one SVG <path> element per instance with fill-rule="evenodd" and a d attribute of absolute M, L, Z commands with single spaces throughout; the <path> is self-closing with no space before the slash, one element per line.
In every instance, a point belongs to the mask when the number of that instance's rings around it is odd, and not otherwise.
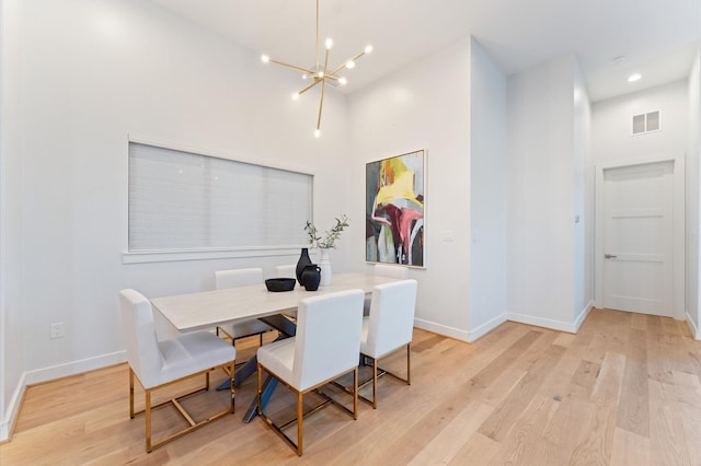
<path fill-rule="evenodd" d="M 388 374 L 407 385 L 411 384 L 411 341 L 416 308 L 416 280 L 401 280 L 378 284 L 372 290 L 370 315 L 363 318 L 360 338 L 360 354 L 371 360 L 372 399 L 364 396 L 360 396 L 360 399 L 374 408 L 377 408 L 378 359 L 406 347 L 406 378 L 387 370 L 379 371 L 380 375 Z"/>

